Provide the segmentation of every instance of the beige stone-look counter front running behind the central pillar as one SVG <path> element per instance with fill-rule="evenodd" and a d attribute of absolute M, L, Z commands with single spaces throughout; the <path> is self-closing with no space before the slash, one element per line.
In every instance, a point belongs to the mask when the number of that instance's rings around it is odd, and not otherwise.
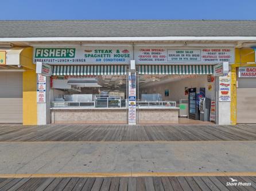
<path fill-rule="evenodd" d="M 138 124 L 176 124 L 179 108 L 139 108 Z M 52 124 L 127 124 L 126 108 L 51 108 Z"/>

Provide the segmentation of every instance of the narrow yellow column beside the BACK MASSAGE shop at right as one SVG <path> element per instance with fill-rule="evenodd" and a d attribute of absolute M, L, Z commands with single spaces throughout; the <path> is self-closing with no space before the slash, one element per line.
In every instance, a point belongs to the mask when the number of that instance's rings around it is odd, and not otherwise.
<path fill-rule="evenodd" d="M 230 103 L 231 125 L 236 124 L 236 67 L 231 67 L 231 103 Z"/>

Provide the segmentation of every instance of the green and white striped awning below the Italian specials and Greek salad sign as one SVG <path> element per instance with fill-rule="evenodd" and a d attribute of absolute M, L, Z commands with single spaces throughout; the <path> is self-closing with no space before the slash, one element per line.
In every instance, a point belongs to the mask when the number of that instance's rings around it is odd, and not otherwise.
<path fill-rule="evenodd" d="M 212 65 L 139 65 L 139 74 L 213 74 Z"/>

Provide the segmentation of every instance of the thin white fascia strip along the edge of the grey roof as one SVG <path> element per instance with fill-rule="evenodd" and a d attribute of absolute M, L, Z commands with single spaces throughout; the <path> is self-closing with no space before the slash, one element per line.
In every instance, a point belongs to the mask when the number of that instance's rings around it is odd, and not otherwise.
<path fill-rule="evenodd" d="M 74 41 L 256 41 L 256 37 L 29 37 L 0 38 L 0 42 Z"/>

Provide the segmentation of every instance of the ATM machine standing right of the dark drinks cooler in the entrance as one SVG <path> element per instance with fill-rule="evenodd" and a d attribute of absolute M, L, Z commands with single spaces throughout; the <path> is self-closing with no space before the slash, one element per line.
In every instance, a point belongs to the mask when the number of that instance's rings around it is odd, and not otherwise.
<path fill-rule="evenodd" d="M 207 97 L 199 100 L 200 121 L 210 121 L 211 100 Z"/>

